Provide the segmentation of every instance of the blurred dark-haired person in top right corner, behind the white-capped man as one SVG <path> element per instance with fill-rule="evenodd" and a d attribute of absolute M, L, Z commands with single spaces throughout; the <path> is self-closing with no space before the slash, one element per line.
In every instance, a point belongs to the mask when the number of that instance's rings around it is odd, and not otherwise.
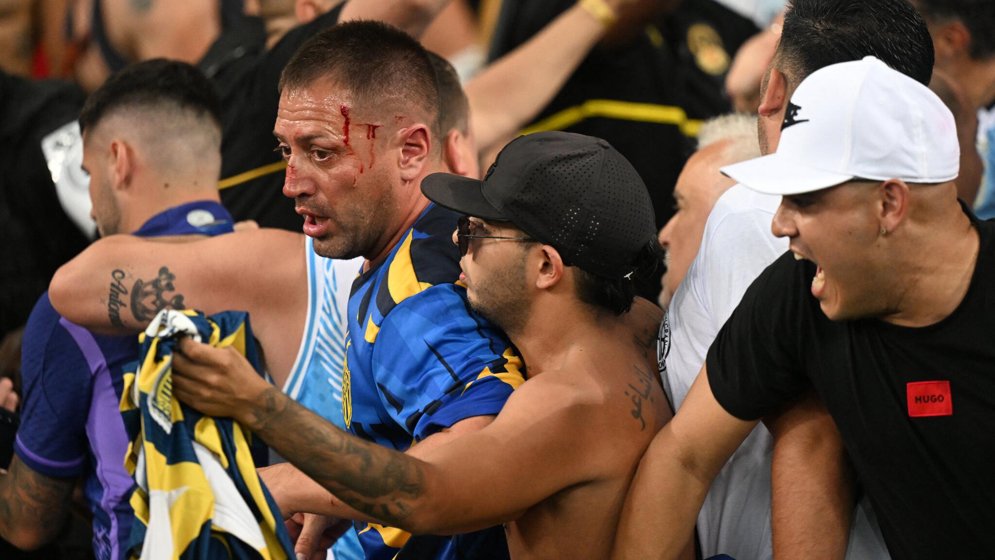
<path fill-rule="evenodd" d="M 977 145 L 984 171 L 977 200 L 967 202 L 976 202 L 979 218 L 995 218 L 995 3 L 914 0 L 914 4 L 929 24 L 936 71 L 959 91 L 966 112 L 977 113 Z"/>

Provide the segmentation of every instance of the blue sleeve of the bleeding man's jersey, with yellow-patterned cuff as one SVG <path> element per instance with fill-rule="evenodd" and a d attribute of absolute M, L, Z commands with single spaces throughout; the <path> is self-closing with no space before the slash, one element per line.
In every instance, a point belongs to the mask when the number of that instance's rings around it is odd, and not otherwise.
<path fill-rule="evenodd" d="M 447 283 L 408 297 L 384 318 L 373 376 L 384 409 L 416 441 L 475 416 L 496 415 L 524 381 L 521 359 Z"/>

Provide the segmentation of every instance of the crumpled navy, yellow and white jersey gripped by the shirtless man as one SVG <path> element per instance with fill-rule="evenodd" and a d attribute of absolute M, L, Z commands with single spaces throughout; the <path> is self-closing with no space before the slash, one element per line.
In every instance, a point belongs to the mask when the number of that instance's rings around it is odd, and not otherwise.
<path fill-rule="evenodd" d="M 121 414 L 130 444 L 135 519 L 129 558 L 286 560 L 293 547 L 280 510 L 256 473 L 252 434 L 204 416 L 172 394 L 172 354 L 182 336 L 232 346 L 260 371 L 249 315 L 164 309 L 139 336 L 125 374 Z"/>

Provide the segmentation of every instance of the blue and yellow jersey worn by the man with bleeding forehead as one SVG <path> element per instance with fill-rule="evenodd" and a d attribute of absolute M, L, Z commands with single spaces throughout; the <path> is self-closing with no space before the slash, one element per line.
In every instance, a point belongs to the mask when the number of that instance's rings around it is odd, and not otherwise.
<path fill-rule="evenodd" d="M 407 450 L 461 420 L 497 415 L 524 381 L 507 337 L 471 310 L 466 288 L 456 283 L 458 217 L 429 206 L 390 255 L 352 284 L 342 415 L 364 440 Z M 356 530 L 369 560 L 392 560 L 408 542 L 399 529 L 357 522 Z M 440 542 L 418 543 L 431 549 L 419 558 L 507 555 L 499 527 L 431 538 Z"/>

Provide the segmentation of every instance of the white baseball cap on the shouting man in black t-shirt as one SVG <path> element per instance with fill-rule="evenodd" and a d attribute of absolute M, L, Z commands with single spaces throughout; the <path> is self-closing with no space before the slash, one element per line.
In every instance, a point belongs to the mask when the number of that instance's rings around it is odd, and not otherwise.
<path fill-rule="evenodd" d="M 792 195 L 853 179 L 945 183 L 959 168 L 950 109 L 867 57 L 812 73 L 791 96 L 777 152 L 721 172 L 755 191 Z"/>

